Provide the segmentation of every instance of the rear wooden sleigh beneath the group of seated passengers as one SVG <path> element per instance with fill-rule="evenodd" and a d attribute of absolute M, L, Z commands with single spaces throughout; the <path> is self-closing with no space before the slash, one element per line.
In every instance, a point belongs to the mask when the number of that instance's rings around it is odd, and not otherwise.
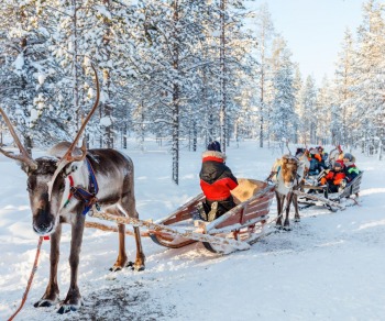
<path fill-rule="evenodd" d="M 363 171 L 349 182 L 341 191 L 329 193 L 327 185 L 309 185 L 305 184 L 302 190 L 296 191 L 298 195 L 299 209 L 306 209 L 314 206 L 324 206 L 330 211 L 345 209 L 345 200 L 351 199 L 356 204 L 359 197 Z"/>

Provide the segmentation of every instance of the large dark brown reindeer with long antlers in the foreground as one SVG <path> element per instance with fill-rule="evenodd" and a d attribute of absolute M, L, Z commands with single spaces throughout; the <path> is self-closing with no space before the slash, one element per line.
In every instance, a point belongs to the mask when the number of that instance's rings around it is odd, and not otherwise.
<path fill-rule="evenodd" d="M 92 66 L 94 68 L 94 66 Z M 134 197 L 134 168 L 132 160 L 110 148 L 87 151 L 85 140 L 81 148 L 76 147 L 85 126 L 99 104 L 100 89 L 96 69 L 97 98 L 73 143 L 62 142 L 50 151 L 50 156 L 33 159 L 21 144 L 6 112 L 0 108 L 20 154 L 15 155 L 0 148 L 6 156 L 19 160 L 28 175 L 28 192 L 32 211 L 32 228 L 38 235 L 51 235 L 50 280 L 43 297 L 34 305 L 50 307 L 59 302 L 57 284 L 57 264 L 62 224 L 72 225 L 70 241 L 70 285 L 58 313 L 77 310 L 82 305 L 78 288 L 78 266 L 85 228 L 85 212 L 92 206 L 116 215 L 138 218 Z M 74 197 L 73 197 L 74 196 Z M 141 244 L 141 234 L 134 226 L 136 241 L 135 262 L 129 262 L 125 253 L 125 225 L 118 224 L 118 258 L 110 270 L 131 267 L 144 269 L 145 256 Z"/>

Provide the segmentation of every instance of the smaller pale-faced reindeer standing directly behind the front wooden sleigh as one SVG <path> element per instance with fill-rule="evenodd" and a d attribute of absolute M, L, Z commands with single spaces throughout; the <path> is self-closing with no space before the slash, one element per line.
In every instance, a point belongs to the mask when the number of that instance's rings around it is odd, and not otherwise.
<path fill-rule="evenodd" d="M 293 202 L 295 209 L 295 222 L 300 221 L 298 212 L 297 195 L 293 190 L 300 187 L 304 174 L 305 162 L 300 162 L 298 158 L 292 155 L 284 155 L 280 159 L 277 159 L 273 165 L 272 173 L 276 173 L 274 180 L 276 182 L 275 195 L 277 200 L 277 221 L 276 226 L 282 228 L 282 218 L 284 210 L 286 211 L 284 230 L 290 230 L 289 211 Z M 286 199 L 286 207 L 284 209 Z"/>

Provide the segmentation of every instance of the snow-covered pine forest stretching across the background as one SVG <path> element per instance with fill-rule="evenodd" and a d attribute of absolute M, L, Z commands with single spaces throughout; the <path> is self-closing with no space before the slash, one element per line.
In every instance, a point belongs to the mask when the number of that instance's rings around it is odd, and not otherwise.
<path fill-rule="evenodd" d="M 0 98 L 28 150 L 70 140 L 95 100 L 88 144 L 129 136 L 168 144 L 172 179 L 183 148 L 217 139 L 260 147 L 341 144 L 382 158 L 385 19 L 381 1 L 346 29 L 336 73 L 301 75 L 268 7 L 242 0 L 3 0 Z M 7 128 L 0 120 L 0 145 Z M 283 140 L 284 139 L 284 140 Z M 276 143 L 277 142 L 277 143 Z"/>

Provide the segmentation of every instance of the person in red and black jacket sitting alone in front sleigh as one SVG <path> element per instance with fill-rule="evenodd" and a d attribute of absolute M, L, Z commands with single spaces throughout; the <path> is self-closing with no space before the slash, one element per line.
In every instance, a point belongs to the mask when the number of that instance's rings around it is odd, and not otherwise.
<path fill-rule="evenodd" d="M 219 142 L 211 142 L 202 154 L 199 173 L 206 201 L 198 206 L 198 210 L 205 221 L 212 221 L 235 207 L 230 190 L 238 186 L 238 180 L 224 162 L 226 155 L 222 154 Z"/>

